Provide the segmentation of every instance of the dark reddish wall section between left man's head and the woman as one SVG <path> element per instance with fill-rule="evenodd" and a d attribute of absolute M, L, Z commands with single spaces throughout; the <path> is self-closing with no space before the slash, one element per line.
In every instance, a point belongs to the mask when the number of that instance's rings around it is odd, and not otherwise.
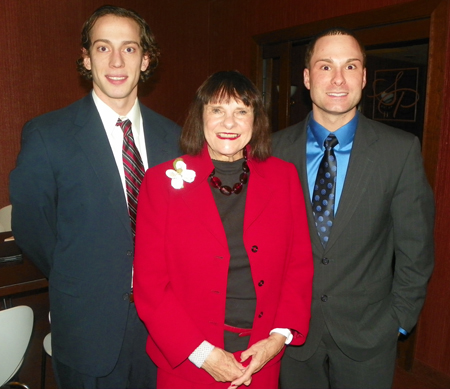
<path fill-rule="evenodd" d="M 158 39 L 162 63 L 142 101 L 182 124 L 194 92 L 208 75 L 207 0 L 141 0 Z M 142 5 L 144 7 L 144 5 Z M 142 92 L 149 92 L 143 85 Z"/>

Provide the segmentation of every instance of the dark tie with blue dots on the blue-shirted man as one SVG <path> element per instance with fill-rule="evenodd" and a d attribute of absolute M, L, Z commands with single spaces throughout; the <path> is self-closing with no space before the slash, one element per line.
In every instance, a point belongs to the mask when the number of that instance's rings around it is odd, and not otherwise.
<path fill-rule="evenodd" d="M 338 144 L 336 136 L 330 134 L 325 139 L 325 152 L 317 172 L 312 208 L 316 219 L 317 233 L 322 245 L 328 243 L 334 220 L 334 195 L 336 190 L 337 163 L 333 148 Z"/>

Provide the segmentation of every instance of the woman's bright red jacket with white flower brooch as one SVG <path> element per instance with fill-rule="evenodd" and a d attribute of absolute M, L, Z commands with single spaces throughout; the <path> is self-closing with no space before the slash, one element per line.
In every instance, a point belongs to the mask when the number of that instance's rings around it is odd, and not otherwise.
<path fill-rule="evenodd" d="M 214 383 L 187 358 L 204 340 L 223 348 L 230 252 L 208 177 L 208 151 L 184 156 L 194 182 L 174 189 L 166 170 L 150 169 L 139 196 L 134 292 L 158 367 L 193 382 Z M 250 345 L 274 328 L 308 332 L 312 254 L 295 167 L 277 158 L 249 159 L 243 242 L 256 292 Z M 158 190 L 154 190 L 154 188 Z M 269 364 L 280 359 L 275 357 Z"/>

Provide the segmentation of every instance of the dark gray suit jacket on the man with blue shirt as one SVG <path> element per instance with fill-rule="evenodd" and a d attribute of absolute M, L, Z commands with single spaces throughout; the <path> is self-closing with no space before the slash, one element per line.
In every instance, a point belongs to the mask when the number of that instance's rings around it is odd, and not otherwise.
<path fill-rule="evenodd" d="M 324 249 L 310 206 L 307 120 L 274 135 L 274 155 L 295 164 L 303 185 L 314 256 L 309 335 L 287 352 L 309 358 L 326 323 L 345 354 L 367 360 L 416 324 L 433 268 L 433 195 L 418 139 L 360 115 Z"/>

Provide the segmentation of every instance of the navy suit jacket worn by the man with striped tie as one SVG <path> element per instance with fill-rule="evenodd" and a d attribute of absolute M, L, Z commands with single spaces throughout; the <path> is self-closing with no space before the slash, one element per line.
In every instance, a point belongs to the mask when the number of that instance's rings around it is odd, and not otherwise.
<path fill-rule="evenodd" d="M 179 155 L 179 128 L 141 104 L 149 166 Z M 10 176 L 18 245 L 50 285 L 53 355 L 103 376 L 123 341 L 133 239 L 117 165 L 91 94 L 28 122 Z"/>

